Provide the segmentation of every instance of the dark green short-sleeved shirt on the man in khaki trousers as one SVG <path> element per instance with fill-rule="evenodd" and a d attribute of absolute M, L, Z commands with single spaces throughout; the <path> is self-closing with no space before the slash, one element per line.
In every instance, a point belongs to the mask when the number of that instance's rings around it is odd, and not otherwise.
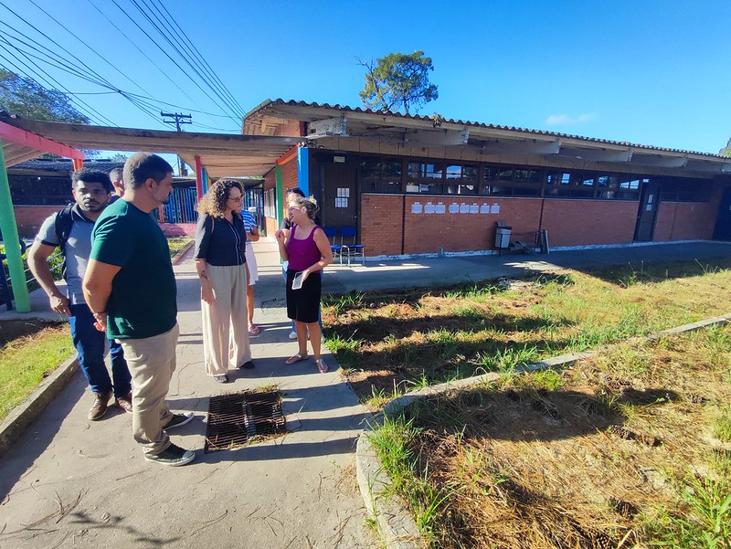
<path fill-rule="evenodd" d="M 154 219 L 120 199 L 101 213 L 91 240 L 90 259 L 122 268 L 107 303 L 109 337 L 143 339 L 172 330 L 175 274 L 167 239 Z"/>

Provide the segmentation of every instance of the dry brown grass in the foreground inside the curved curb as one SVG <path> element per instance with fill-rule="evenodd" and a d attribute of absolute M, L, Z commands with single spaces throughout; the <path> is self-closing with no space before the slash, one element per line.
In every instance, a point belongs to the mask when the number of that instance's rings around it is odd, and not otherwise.
<path fill-rule="evenodd" d="M 434 547 L 723 548 L 729 402 L 722 326 L 430 398 L 374 442 Z"/>

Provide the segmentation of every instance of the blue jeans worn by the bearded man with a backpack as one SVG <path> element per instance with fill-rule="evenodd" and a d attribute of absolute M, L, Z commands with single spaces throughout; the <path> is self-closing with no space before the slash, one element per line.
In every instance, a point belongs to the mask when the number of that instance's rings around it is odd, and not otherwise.
<path fill-rule="evenodd" d="M 85 303 L 70 305 L 71 316 L 71 337 L 74 347 L 79 354 L 81 371 L 89 381 L 93 393 L 103 395 L 113 389 L 114 397 L 126 397 L 132 389 L 132 375 L 127 368 L 127 361 L 124 360 L 122 345 L 109 340 L 109 354 L 111 356 L 111 378 L 104 364 L 104 340 L 106 334 L 94 327 L 94 316 L 89 306 Z"/>

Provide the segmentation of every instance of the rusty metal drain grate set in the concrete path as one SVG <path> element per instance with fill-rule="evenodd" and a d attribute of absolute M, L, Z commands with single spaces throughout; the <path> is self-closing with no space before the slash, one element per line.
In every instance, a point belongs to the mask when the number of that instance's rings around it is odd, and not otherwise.
<path fill-rule="evenodd" d="M 236 449 L 254 437 L 276 437 L 286 432 L 279 391 L 243 391 L 211 396 L 205 451 Z"/>

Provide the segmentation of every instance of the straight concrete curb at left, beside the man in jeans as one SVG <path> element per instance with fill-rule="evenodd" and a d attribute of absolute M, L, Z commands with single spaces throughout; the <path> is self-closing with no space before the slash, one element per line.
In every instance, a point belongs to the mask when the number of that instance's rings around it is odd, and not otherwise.
<path fill-rule="evenodd" d="M 77 357 L 69 358 L 40 382 L 22 403 L 10 411 L 10 414 L 0 423 L 0 457 L 26 432 L 26 429 L 40 416 L 51 400 L 58 396 L 58 393 L 78 370 Z"/>

